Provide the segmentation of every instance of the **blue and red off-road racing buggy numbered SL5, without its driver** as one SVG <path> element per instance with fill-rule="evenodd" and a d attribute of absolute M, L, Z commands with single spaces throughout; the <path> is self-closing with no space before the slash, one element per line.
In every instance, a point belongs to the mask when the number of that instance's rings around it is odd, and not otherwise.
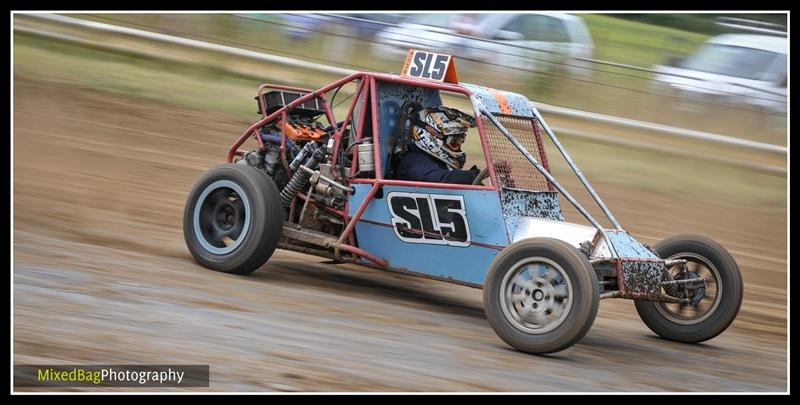
<path fill-rule="evenodd" d="M 395 178 L 408 106 L 443 96 L 471 109 L 483 169 L 471 185 Z M 528 353 L 578 342 L 606 298 L 634 300 L 653 332 L 679 342 L 711 339 L 739 312 L 728 251 L 689 234 L 637 241 L 531 101 L 459 83 L 449 55 L 410 50 L 401 75 L 356 72 L 318 90 L 264 84 L 256 100 L 261 119 L 188 196 L 186 244 L 207 268 L 248 274 L 280 248 L 482 288 L 494 331 Z M 553 177 L 543 133 L 611 226 Z M 562 199 L 588 225 L 566 222 Z"/>

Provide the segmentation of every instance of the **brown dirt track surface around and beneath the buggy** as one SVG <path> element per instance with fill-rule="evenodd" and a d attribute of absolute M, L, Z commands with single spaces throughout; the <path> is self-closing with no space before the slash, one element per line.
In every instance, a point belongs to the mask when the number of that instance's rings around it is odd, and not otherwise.
<path fill-rule="evenodd" d="M 210 364 L 225 391 L 787 388 L 785 209 L 595 184 L 645 242 L 727 246 L 742 312 L 684 345 L 604 300 L 579 344 L 530 356 L 494 334 L 480 290 L 286 251 L 248 277 L 194 263 L 185 197 L 247 122 L 19 77 L 14 103 L 15 364 Z"/>

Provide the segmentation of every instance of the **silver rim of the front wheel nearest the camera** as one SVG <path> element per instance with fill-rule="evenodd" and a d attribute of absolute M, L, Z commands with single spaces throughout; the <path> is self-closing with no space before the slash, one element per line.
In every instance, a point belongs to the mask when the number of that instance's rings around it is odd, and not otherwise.
<path fill-rule="evenodd" d="M 560 326 L 572 308 L 572 282 L 561 266 L 544 257 L 511 266 L 500 283 L 500 294 L 506 319 L 533 335 Z"/>

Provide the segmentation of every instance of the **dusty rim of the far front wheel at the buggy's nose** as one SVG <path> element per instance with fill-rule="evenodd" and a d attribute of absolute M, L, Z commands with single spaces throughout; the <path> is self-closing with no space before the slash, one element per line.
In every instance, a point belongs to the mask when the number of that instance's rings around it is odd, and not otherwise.
<path fill-rule="evenodd" d="M 669 259 L 687 260 L 687 271 L 694 273 L 699 278 L 708 279 L 708 287 L 706 287 L 703 298 L 696 306 L 692 304 L 656 302 L 656 311 L 669 321 L 681 325 L 694 325 L 703 322 L 717 310 L 722 300 L 723 291 L 719 271 L 708 259 L 695 253 L 677 253 L 670 256 Z M 680 269 L 675 271 L 674 269 L 677 267 L 679 266 L 674 266 L 670 270 L 670 275 L 673 277 L 682 271 Z"/>

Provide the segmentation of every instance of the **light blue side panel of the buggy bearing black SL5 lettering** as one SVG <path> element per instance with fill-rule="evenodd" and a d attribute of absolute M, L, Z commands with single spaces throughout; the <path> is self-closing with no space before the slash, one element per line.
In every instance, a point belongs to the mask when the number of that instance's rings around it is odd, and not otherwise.
<path fill-rule="evenodd" d="M 354 215 L 371 187 L 354 186 L 356 193 L 350 199 L 350 215 Z M 397 207 L 390 204 L 396 204 L 399 198 L 411 202 L 400 212 L 410 216 L 410 222 L 393 213 Z M 466 241 L 448 241 L 446 235 L 440 236 L 452 231 L 455 223 L 439 221 L 442 216 L 437 217 L 433 212 L 434 207 L 445 205 L 451 211 L 459 211 L 457 216 L 463 215 Z M 403 230 L 413 235 L 410 228 L 420 226 L 424 228 L 421 237 L 403 236 Z M 386 260 L 389 267 L 473 285 L 483 285 L 495 256 L 509 244 L 500 197 L 495 191 L 387 185 L 381 198 L 369 203 L 355 229 L 359 246 Z"/>

